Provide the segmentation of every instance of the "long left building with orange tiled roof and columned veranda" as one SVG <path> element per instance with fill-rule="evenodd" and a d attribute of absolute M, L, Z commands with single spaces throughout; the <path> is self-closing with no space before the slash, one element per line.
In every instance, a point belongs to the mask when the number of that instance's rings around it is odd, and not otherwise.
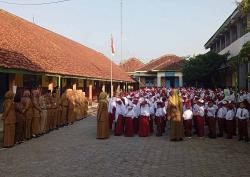
<path fill-rule="evenodd" d="M 113 90 L 134 80 L 115 63 Z M 111 93 L 111 60 L 103 54 L 0 10 L 0 114 L 4 94 L 41 88 L 81 89 L 90 101 Z"/>

